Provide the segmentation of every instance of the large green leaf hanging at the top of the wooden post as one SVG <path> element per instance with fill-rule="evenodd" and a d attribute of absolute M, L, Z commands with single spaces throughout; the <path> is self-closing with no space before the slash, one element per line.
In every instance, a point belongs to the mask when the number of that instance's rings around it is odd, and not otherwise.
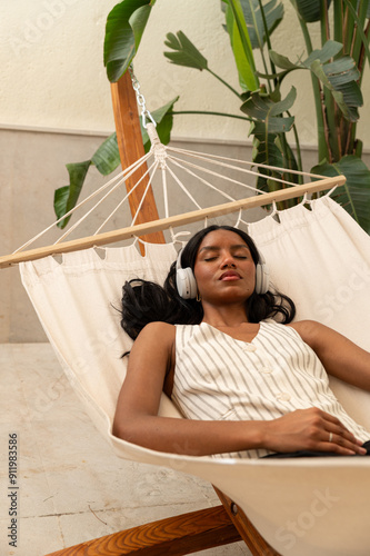
<path fill-rule="evenodd" d="M 138 51 L 156 0 L 123 0 L 107 18 L 104 66 L 109 81 L 118 81 Z"/>

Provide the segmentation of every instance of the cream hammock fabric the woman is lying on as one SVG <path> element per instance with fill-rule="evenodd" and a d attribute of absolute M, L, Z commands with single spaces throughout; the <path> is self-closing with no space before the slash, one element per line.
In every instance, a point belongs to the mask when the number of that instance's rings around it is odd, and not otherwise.
<path fill-rule="evenodd" d="M 317 319 L 370 350 L 370 238 L 328 196 L 249 225 L 274 286 Z M 120 329 L 121 288 L 130 278 L 163 281 L 173 244 L 89 249 L 21 264 L 23 285 L 60 361 L 97 427 L 120 457 L 212 481 L 239 504 L 282 555 L 369 553 L 370 458 L 217 460 L 162 454 L 111 436 L 131 340 Z M 352 417 L 370 429 L 370 395 L 333 381 Z M 177 415 L 163 396 L 162 415 Z M 292 526 L 294 524 L 294 527 Z"/>

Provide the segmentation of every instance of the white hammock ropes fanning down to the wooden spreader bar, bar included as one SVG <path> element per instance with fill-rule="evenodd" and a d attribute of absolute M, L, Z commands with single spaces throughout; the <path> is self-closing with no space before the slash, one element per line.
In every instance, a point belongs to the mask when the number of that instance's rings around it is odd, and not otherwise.
<path fill-rule="evenodd" d="M 16 251 L 13 251 L 11 256 L 0 257 L 0 268 L 18 264 L 22 260 L 29 260 L 24 259 L 24 257 L 21 256 L 22 252 L 23 254 L 29 252 L 30 256 L 36 256 L 37 258 L 40 258 L 41 256 L 43 257 L 49 254 L 67 252 L 68 250 L 79 250 L 90 246 L 101 246 L 107 242 L 120 241 L 122 239 L 127 239 L 130 237 L 134 238 L 137 236 L 147 234 L 148 230 L 150 230 L 149 232 L 152 232 L 157 230 L 169 229 L 173 238 L 176 236 L 176 234 L 173 232 L 174 227 L 182 226 L 183 224 L 191 224 L 194 221 L 204 220 L 206 218 L 208 221 L 209 218 L 214 218 L 231 212 L 239 212 L 237 219 L 238 226 L 240 226 L 241 224 L 248 226 L 248 222 L 242 218 L 242 210 L 247 210 L 253 207 L 272 205 L 272 215 L 276 215 L 278 212 L 277 202 L 281 200 L 293 199 L 304 196 L 303 198 L 307 201 L 308 193 L 320 192 L 329 189 L 330 192 L 328 195 L 331 195 L 332 190 L 337 186 L 343 185 L 346 181 L 346 178 L 343 176 L 337 176 L 334 178 L 326 178 L 309 172 L 301 172 L 299 170 L 287 170 L 287 173 L 301 175 L 303 177 L 314 178 L 318 181 L 297 186 L 296 183 L 278 178 L 277 176 L 269 176 L 270 180 L 273 180 L 279 185 L 282 183 L 287 187 L 284 188 L 280 187 L 279 189 L 277 189 L 277 191 L 273 192 L 262 191 L 256 189 L 254 186 L 251 186 L 246 182 L 246 177 L 256 178 L 256 176 L 260 176 L 258 171 L 251 170 L 249 167 L 253 166 L 259 169 L 263 168 L 267 170 L 279 170 L 280 173 L 283 171 L 282 168 L 262 163 L 254 163 L 247 160 L 237 160 L 229 157 L 220 157 L 218 155 L 208 155 L 192 150 L 164 146 L 159 140 L 154 125 L 150 122 L 147 123 L 147 131 L 151 141 L 151 149 L 149 150 L 148 153 L 142 156 L 130 167 L 126 168 L 118 176 L 110 179 L 107 183 L 101 186 L 97 191 L 89 195 L 86 199 L 80 201 L 74 208 L 69 210 L 64 216 L 59 218 L 57 221 L 48 226 L 44 230 L 42 230 L 37 236 L 31 238 L 29 241 L 23 244 Z M 201 162 L 207 163 L 208 166 L 212 166 L 212 169 L 206 166 L 201 166 L 200 165 Z M 139 178 L 139 180 L 131 187 L 129 191 L 124 189 L 126 195 L 123 196 L 123 198 L 116 205 L 114 209 L 110 212 L 110 215 L 103 220 L 103 222 L 96 229 L 96 231 L 91 236 L 89 236 L 88 238 L 82 238 L 81 240 L 64 241 L 64 239 L 68 236 L 70 236 L 70 234 L 74 231 L 93 211 L 96 211 L 96 209 L 100 207 L 100 205 L 102 205 L 102 202 L 107 200 L 112 192 L 119 190 L 119 188 L 122 185 L 124 185 L 126 181 L 129 178 L 131 178 L 134 175 L 134 172 L 138 171 L 138 169 L 140 169 L 142 166 L 147 167 L 146 171 L 143 172 L 143 176 Z M 184 185 L 183 182 L 184 180 L 179 178 L 174 169 L 179 170 L 180 172 L 184 172 L 186 177 L 190 178 L 191 186 L 192 187 L 197 186 L 198 188 L 197 192 L 199 191 L 199 187 L 203 187 L 210 193 L 212 192 L 219 195 L 222 197 L 223 201 L 224 199 L 227 199 L 227 201 L 229 202 L 224 202 L 223 205 L 214 205 L 211 195 L 207 193 L 203 197 L 211 201 L 211 206 L 202 208 L 199 201 L 196 199 L 194 195 L 192 195 L 192 192 L 189 191 L 189 188 Z M 227 170 L 232 172 L 240 172 L 241 177 L 240 179 L 237 179 L 236 177 L 221 173 L 220 169 L 222 169 L 223 171 Z M 164 218 L 161 218 L 160 220 L 156 220 L 152 222 L 137 225 L 136 222 L 138 219 L 138 215 L 140 212 L 140 209 L 142 207 L 142 203 L 150 187 L 152 187 L 154 190 L 156 186 L 154 178 L 157 177 L 158 173 L 160 173 L 160 179 L 159 179 L 160 187 L 158 187 L 158 190 L 161 189 L 163 195 Z M 212 179 L 222 180 L 222 182 L 226 185 L 226 189 L 228 186 L 240 188 L 243 196 L 246 195 L 244 190 L 247 189 L 253 193 L 253 197 L 248 197 L 248 198 L 242 197 L 241 199 L 237 198 L 236 195 L 230 195 L 230 190 L 229 191 L 223 190 L 221 189 L 221 187 L 212 183 L 209 179 L 206 179 L 204 175 L 210 176 Z M 141 200 L 136 209 L 134 216 L 131 220 L 131 225 L 121 230 L 117 230 L 117 232 L 102 234 L 101 232 L 102 229 L 108 225 L 109 221 L 111 221 L 112 217 L 124 205 L 124 202 L 129 200 L 133 191 L 136 191 L 136 189 L 140 186 L 143 179 L 147 178 L 148 176 L 149 176 L 148 183 L 141 196 Z M 196 207 L 197 209 L 196 211 L 187 212 L 184 215 L 179 215 L 179 216 L 170 215 L 171 211 L 170 211 L 169 191 L 171 188 L 169 180 L 171 180 L 171 182 L 173 182 L 174 186 L 177 186 L 180 189 L 180 191 L 186 196 L 188 201 L 190 201 Z M 80 210 L 88 201 L 93 200 L 97 196 L 101 193 L 104 195 L 73 226 L 71 226 L 50 247 L 49 250 L 48 248 L 40 248 L 40 254 L 42 255 L 39 255 L 38 249 L 24 251 L 26 248 L 31 246 L 34 241 L 41 238 L 50 229 L 56 227 L 57 224 L 68 218 L 77 210 Z M 173 195 L 173 189 L 172 189 L 172 195 Z M 17 258 L 18 254 L 20 255 L 20 258 Z"/>

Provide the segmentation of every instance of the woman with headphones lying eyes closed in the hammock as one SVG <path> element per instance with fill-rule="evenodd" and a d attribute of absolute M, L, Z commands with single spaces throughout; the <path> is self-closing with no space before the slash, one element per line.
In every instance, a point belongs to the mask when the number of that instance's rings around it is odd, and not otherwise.
<path fill-rule="evenodd" d="M 370 354 L 318 322 L 291 322 L 293 302 L 266 291 L 263 269 L 247 234 L 211 226 L 190 239 L 163 288 L 124 285 L 122 326 L 136 341 L 116 436 L 196 456 L 370 454 L 370 433 L 327 375 L 370 390 Z M 158 416 L 162 390 L 186 419 Z"/>

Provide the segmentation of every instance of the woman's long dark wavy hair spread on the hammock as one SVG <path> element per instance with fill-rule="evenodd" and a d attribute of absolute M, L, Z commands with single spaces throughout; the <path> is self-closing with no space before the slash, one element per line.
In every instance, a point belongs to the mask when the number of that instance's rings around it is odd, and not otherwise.
<path fill-rule="evenodd" d="M 200 244 L 204 237 L 214 230 L 228 230 L 238 234 L 247 244 L 254 265 L 259 262 L 259 254 L 253 240 L 242 230 L 231 226 L 209 226 L 196 234 L 181 252 L 182 268 L 194 269 Z M 152 281 L 134 279 L 123 286 L 121 326 L 123 330 L 136 339 L 140 330 L 149 322 L 163 321 L 171 325 L 199 325 L 203 319 L 202 305 L 196 299 L 183 299 L 179 296 L 176 286 L 174 261 L 160 286 Z M 282 324 L 291 322 L 296 315 L 293 301 L 277 291 L 253 294 L 246 301 L 246 314 L 250 322 L 260 322 L 267 318 L 279 317 Z"/>

